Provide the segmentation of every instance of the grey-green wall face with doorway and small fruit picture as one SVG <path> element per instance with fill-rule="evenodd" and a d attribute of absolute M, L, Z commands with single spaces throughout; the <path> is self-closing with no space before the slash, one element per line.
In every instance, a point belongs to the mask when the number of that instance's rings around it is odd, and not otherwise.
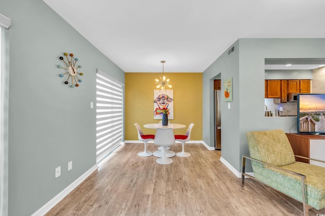
<path fill-rule="evenodd" d="M 221 156 L 227 158 L 230 164 L 237 163 L 233 155 L 239 154 L 234 148 L 239 143 L 239 44 L 238 40 L 230 47 L 235 46 L 235 52 L 228 55 L 226 50 L 215 62 L 203 72 L 203 141 L 214 146 L 214 98 L 213 79 L 221 73 Z M 225 102 L 223 92 L 224 80 L 233 78 L 233 101 Z M 230 103 L 231 109 L 228 109 Z M 209 110 L 209 112 L 208 112 Z"/>

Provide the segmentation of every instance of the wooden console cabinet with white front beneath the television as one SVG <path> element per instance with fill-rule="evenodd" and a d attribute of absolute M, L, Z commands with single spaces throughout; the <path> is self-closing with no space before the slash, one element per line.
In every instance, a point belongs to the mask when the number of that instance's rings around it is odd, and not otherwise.
<path fill-rule="evenodd" d="M 325 160 L 325 137 L 316 135 L 302 135 L 286 133 L 295 155 L 309 157 L 313 159 Z M 325 166 L 317 161 L 296 157 L 296 161 L 311 163 L 319 166 Z"/>

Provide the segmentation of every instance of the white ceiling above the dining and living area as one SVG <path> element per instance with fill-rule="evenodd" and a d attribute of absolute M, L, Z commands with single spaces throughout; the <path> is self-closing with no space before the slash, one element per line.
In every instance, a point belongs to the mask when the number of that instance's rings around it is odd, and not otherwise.
<path fill-rule="evenodd" d="M 125 72 L 203 72 L 238 38 L 323 38 L 324 0 L 43 0 Z"/>

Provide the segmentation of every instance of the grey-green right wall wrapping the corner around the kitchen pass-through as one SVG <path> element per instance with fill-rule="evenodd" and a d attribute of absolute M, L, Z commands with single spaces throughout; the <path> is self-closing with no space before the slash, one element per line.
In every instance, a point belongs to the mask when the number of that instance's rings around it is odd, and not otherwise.
<path fill-rule="evenodd" d="M 203 107 L 213 109 L 211 78 L 220 72 L 221 82 L 232 76 L 234 101 L 230 102 L 230 110 L 226 103 L 221 106 L 221 156 L 240 172 L 242 155 L 249 155 L 246 132 L 277 128 L 286 133 L 297 131 L 295 118 L 264 117 L 265 58 L 324 58 L 325 39 L 239 39 L 234 45 L 238 54 L 228 56 L 225 52 L 204 71 Z M 231 61 L 232 58 L 238 59 Z M 209 116 L 203 112 L 203 139 L 210 146 L 211 113 Z"/>

